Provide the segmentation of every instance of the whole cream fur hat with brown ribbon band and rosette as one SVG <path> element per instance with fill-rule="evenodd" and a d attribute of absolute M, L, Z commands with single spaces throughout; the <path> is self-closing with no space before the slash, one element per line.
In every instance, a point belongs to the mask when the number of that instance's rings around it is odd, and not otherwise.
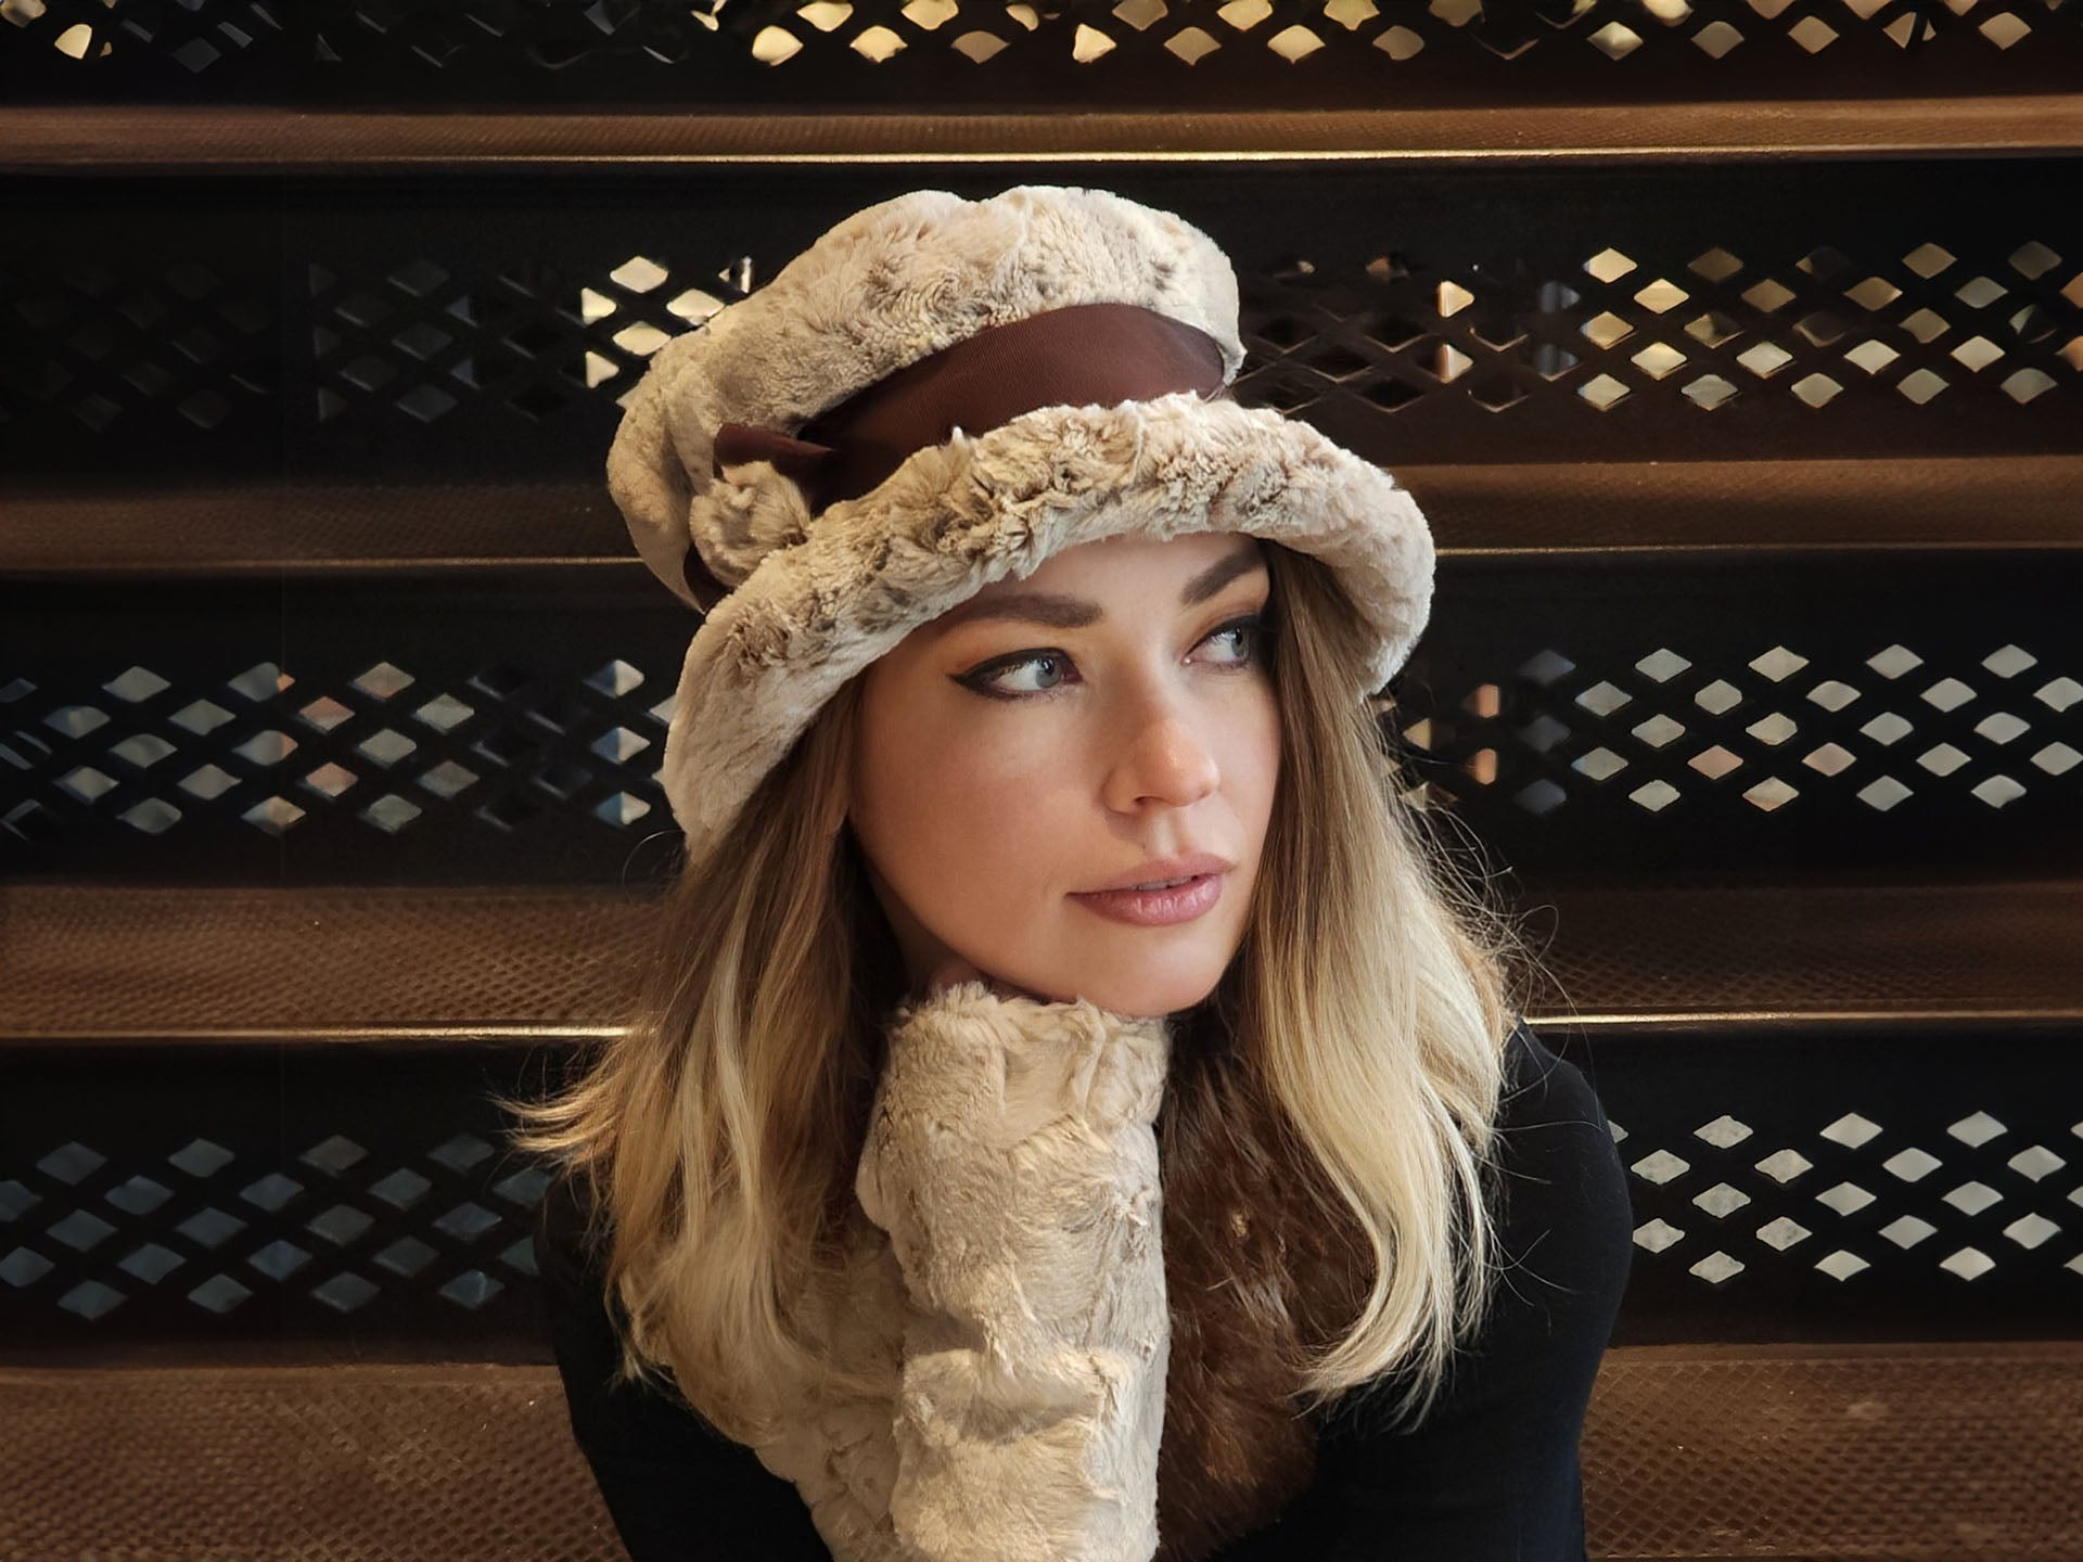
<path fill-rule="evenodd" d="M 1433 539 L 1383 469 L 1229 400 L 1237 279 L 1198 227 L 1106 190 L 912 190 L 667 342 L 608 492 L 706 616 L 660 781 L 706 854 L 823 704 L 1006 575 L 1116 535 L 1244 531 L 1329 564 L 1373 635 L 1431 614 Z"/>

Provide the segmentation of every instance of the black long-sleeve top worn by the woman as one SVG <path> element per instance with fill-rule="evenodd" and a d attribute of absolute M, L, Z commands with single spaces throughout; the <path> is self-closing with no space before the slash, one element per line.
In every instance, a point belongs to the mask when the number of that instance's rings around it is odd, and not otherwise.
<path fill-rule="evenodd" d="M 1325 1422 L 1316 1477 L 1208 1562 L 1589 1562 L 1577 1443 L 1633 1256 L 1627 1177 L 1583 1070 L 1525 1021 L 1500 1104 L 1508 1268 L 1439 1400 L 1389 1431 Z M 535 1250 L 573 1437 L 633 1562 L 829 1562 L 796 1487 L 683 1406 L 629 1383 L 569 1179 Z"/>

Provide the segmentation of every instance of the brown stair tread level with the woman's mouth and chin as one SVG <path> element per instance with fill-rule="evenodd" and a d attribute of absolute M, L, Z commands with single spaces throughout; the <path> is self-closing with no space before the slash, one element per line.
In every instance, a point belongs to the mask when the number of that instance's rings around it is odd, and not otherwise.
<path fill-rule="evenodd" d="M 654 889 L 0 887 L 0 1039 L 612 1035 Z M 1556 1031 L 2083 1021 L 2083 883 L 1537 885 Z M 373 979 L 381 973 L 381 979 Z"/>

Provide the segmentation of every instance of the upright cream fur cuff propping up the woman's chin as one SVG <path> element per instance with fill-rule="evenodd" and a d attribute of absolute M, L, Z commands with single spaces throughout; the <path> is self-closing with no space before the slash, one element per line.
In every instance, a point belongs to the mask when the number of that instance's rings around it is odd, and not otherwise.
<path fill-rule="evenodd" d="M 1171 1031 L 981 981 L 902 1006 L 856 1195 L 902 1266 L 889 1522 L 927 1562 L 1148 1562 Z"/>

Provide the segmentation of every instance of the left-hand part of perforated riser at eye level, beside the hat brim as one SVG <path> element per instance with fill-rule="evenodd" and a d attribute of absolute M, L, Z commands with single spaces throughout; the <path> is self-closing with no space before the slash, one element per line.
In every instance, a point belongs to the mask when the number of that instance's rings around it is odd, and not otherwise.
<path fill-rule="evenodd" d="M 656 773 L 696 619 L 633 560 L 31 589 L 0 631 L 17 868 L 621 883 L 677 848 Z"/>

